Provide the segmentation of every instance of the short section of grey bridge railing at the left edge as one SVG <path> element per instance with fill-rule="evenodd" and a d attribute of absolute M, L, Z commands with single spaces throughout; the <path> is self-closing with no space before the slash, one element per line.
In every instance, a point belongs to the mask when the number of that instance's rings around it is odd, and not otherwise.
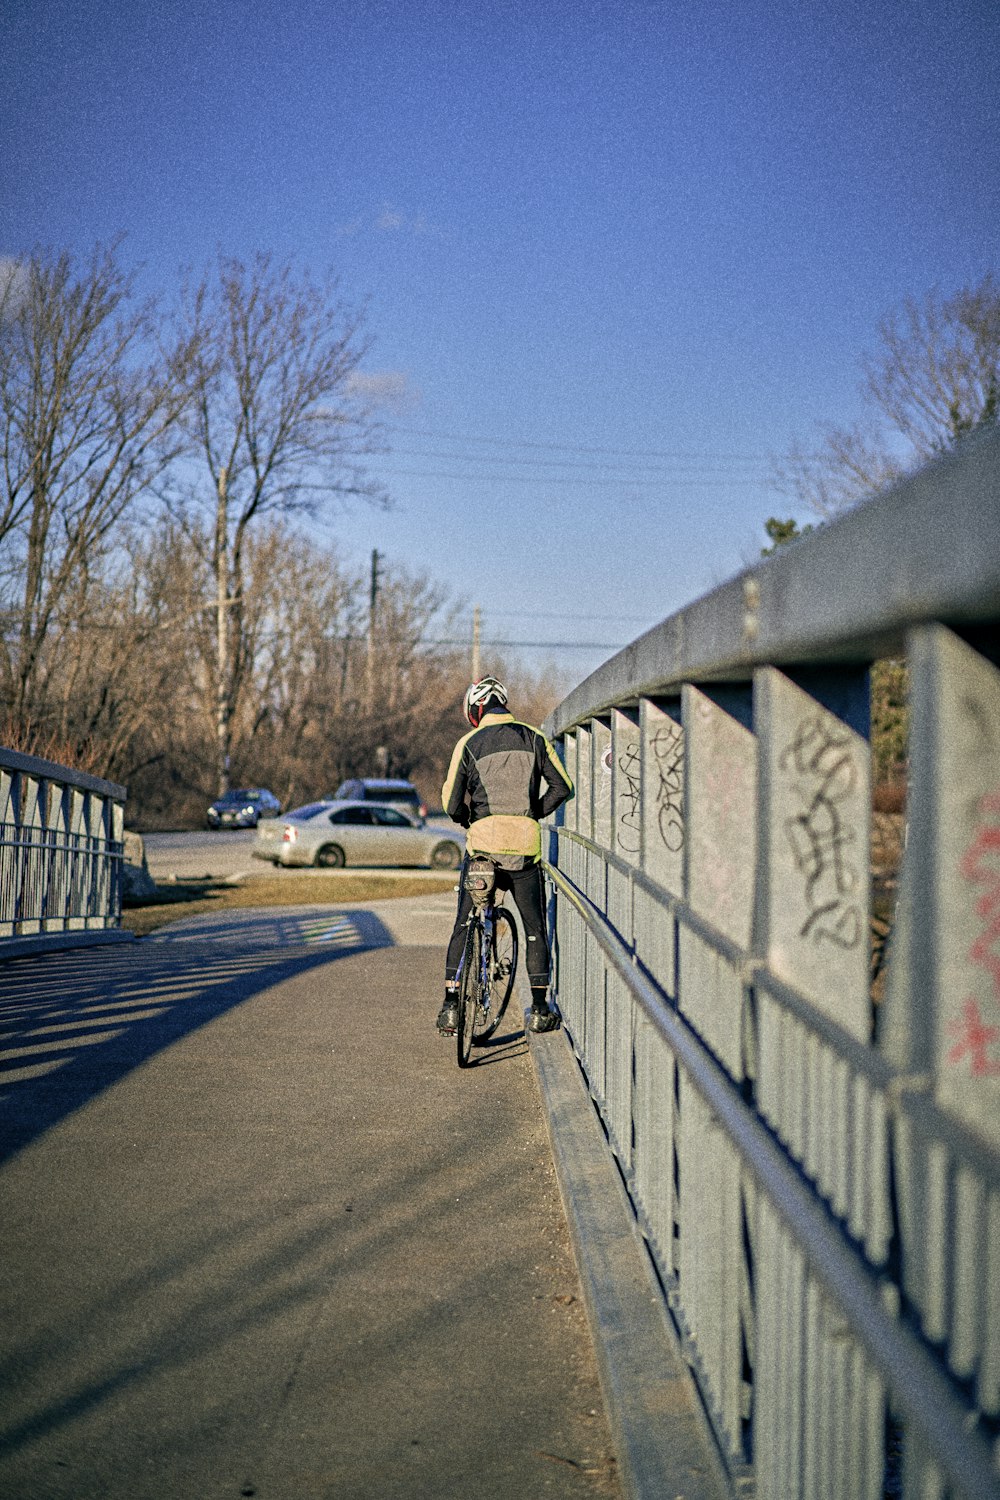
<path fill-rule="evenodd" d="M 124 798 L 112 782 L 0 748 L 0 958 L 117 934 Z"/>

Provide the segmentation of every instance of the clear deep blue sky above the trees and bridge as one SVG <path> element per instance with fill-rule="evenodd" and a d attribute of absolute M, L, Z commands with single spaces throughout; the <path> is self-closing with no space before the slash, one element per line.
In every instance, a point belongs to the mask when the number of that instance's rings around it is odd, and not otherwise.
<path fill-rule="evenodd" d="M 4 0 L 0 256 L 334 267 L 396 506 L 327 532 L 624 644 L 789 514 L 886 312 L 1000 270 L 997 100 L 993 0 Z"/>

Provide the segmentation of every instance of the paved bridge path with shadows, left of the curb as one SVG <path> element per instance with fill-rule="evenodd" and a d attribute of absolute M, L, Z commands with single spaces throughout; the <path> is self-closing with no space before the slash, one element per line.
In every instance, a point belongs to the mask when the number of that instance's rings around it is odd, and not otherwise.
<path fill-rule="evenodd" d="M 520 1014 L 433 1032 L 453 900 L 4 968 L 4 1500 L 619 1492 Z"/>

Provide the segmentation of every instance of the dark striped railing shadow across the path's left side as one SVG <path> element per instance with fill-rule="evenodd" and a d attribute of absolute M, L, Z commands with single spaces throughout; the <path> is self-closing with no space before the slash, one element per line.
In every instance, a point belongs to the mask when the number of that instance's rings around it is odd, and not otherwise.
<path fill-rule="evenodd" d="M 393 945 L 375 914 L 339 909 L 12 958 L 0 990 L 0 1162 L 282 980 Z"/>

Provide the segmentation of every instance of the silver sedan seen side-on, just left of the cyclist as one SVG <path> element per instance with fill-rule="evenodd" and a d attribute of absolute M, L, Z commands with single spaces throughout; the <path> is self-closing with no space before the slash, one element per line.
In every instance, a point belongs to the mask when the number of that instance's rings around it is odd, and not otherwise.
<path fill-rule="evenodd" d="M 465 834 L 442 836 L 388 802 L 330 801 L 262 818 L 252 854 L 280 866 L 421 864 L 457 870 Z"/>

